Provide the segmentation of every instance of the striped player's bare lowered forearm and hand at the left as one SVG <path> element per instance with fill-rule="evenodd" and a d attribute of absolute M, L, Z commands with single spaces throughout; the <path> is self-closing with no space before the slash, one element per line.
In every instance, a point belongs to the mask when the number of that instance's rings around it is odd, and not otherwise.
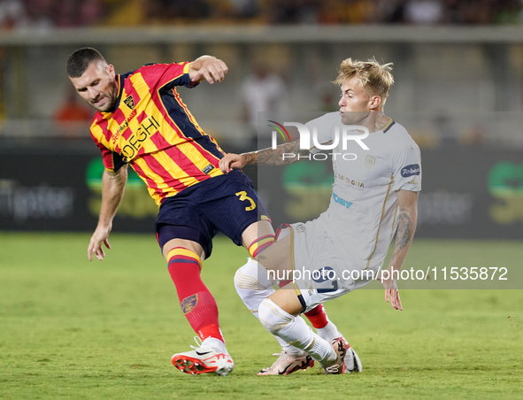
<path fill-rule="evenodd" d="M 112 219 L 116 215 L 118 206 L 124 196 L 126 182 L 127 165 L 122 166 L 115 172 L 104 170 L 104 175 L 102 176 L 102 207 L 100 208 L 98 225 L 88 245 L 89 261 L 93 260 L 93 253 L 100 261 L 104 259 L 105 252 L 102 243 L 104 243 L 107 249 L 111 249 L 108 238 L 112 229 Z"/>

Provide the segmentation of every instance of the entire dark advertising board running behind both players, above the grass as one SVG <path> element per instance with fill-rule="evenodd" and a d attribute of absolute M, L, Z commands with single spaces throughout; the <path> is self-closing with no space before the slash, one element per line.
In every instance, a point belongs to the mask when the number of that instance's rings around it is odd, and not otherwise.
<path fill-rule="evenodd" d="M 86 150 L 88 149 L 88 150 Z M 235 151 L 230 146 L 229 151 Z M 515 150 L 421 150 L 423 181 L 416 237 L 522 239 L 523 158 Z M 92 231 L 101 202 L 103 165 L 96 148 L 5 146 L 0 150 L 0 229 Z M 332 196 L 332 168 L 302 161 L 248 166 L 273 218 L 316 218 Z M 114 231 L 152 233 L 158 207 L 129 173 Z"/>

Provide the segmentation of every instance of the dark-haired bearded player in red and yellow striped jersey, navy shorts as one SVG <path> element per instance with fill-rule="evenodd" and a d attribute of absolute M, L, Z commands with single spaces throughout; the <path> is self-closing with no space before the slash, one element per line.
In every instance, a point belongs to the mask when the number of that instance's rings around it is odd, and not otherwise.
<path fill-rule="evenodd" d="M 227 375 L 234 367 L 219 329 L 218 307 L 200 278 L 212 237 L 223 232 L 256 258 L 273 243 L 273 227 L 252 182 L 242 172 L 224 174 L 224 152 L 206 135 L 181 101 L 176 87 L 224 79 L 227 65 L 211 56 L 193 62 L 143 65 L 123 74 L 95 49 L 73 52 L 66 65 L 78 94 L 96 115 L 90 133 L 104 159 L 103 197 L 98 224 L 88 245 L 102 260 L 119 203 L 127 165 L 135 170 L 159 206 L 158 243 L 176 286 L 181 310 L 201 340 L 193 351 L 175 354 L 185 373 Z M 336 330 L 319 306 L 315 327 Z"/>

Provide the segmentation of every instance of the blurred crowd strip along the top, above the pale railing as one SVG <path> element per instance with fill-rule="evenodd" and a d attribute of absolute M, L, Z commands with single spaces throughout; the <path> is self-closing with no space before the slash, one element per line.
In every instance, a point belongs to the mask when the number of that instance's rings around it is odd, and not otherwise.
<path fill-rule="evenodd" d="M 0 27 L 517 24 L 523 0 L 0 0 Z"/>

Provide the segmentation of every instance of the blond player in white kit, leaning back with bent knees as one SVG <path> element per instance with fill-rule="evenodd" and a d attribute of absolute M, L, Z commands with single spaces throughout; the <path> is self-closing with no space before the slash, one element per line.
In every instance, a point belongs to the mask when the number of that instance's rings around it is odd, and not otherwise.
<path fill-rule="evenodd" d="M 235 274 L 243 302 L 271 334 L 288 343 L 282 355 L 288 352 L 302 361 L 302 369 L 311 366 L 311 359 L 319 361 L 324 373 L 344 373 L 345 357 L 352 350 L 342 337 L 329 342 L 313 333 L 301 313 L 361 288 L 381 273 L 385 300 L 403 310 L 396 279 L 416 229 L 421 160 L 404 127 L 383 112 L 394 82 L 390 72 L 391 64 L 374 59 L 342 62 L 334 81 L 342 88 L 340 112 L 305 124 L 309 132 L 317 129 L 317 143 L 333 147 L 327 156 L 332 158 L 335 183 L 327 211 L 318 219 L 288 226 L 288 235 L 280 235 L 258 261 L 249 260 Z M 359 126 L 368 135 L 343 141 L 347 126 Z M 228 154 L 219 165 L 225 173 L 247 164 L 285 165 L 317 151 L 301 149 L 298 140 L 276 149 Z M 395 234 L 394 252 L 383 265 Z M 300 280 L 274 291 L 274 283 L 296 277 L 297 271 Z M 290 367 L 300 369 L 298 363 Z"/>

